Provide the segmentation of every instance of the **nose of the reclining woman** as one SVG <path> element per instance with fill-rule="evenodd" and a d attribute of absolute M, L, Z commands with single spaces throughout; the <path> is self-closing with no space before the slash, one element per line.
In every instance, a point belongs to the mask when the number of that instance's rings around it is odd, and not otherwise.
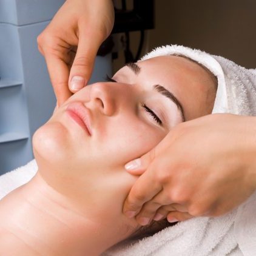
<path fill-rule="evenodd" d="M 107 116 L 115 115 L 116 106 L 116 90 L 114 85 L 109 83 L 96 83 L 92 85 L 90 91 L 90 101 L 92 101 L 93 108 L 99 110 Z"/>

